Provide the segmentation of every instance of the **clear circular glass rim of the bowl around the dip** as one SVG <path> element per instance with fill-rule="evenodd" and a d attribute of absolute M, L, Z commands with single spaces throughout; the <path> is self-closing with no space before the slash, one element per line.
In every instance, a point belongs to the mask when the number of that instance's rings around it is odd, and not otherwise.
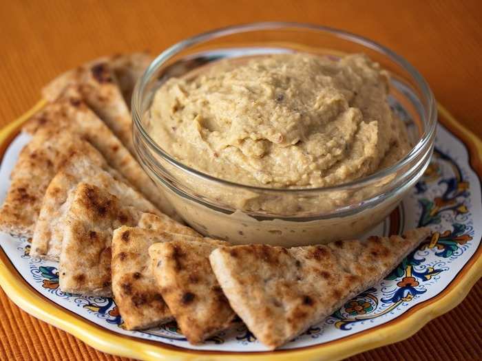
<path fill-rule="evenodd" d="M 410 76 L 412 76 L 415 83 L 421 89 L 421 92 L 424 96 L 426 96 L 428 107 L 423 107 L 424 109 L 424 116 L 426 116 L 426 124 L 428 124 L 427 129 L 424 129 L 423 133 L 421 134 L 421 138 L 415 146 L 412 147 L 410 152 L 405 155 L 401 160 L 397 163 L 392 164 L 387 168 L 383 168 L 375 173 L 367 175 L 366 177 L 362 177 L 359 179 L 354 179 L 350 182 L 337 184 L 334 186 L 325 186 L 325 187 L 297 187 L 297 188 L 270 188 L 270 187 L 262 187 L 262 186 L 251 186 L 249 184 L 242 184 L 237 182 L 232 182 L 227 179 L 222 179 L 218 177 L 214 177 L 213 175 L 209 175 L 202 171 L 198 171 L 182 162 L 176 160 L 176 158 L 172 157 L 164 151 L 155 140 L 151 138 L 149 133 L 143 127 L 142 118 L 143 114 L 141 111 L 141 107 L 143 104 L 143 91 L 144 87 L 147 82 L 151 79 L 152 74 L 156 72 L 156 70 L 161 67 L 166 61 L 168 61 L 171 57 L 175 56 L 178 52 L 185 50 L 191 45 L 195 45 L 197 43 L 202 43 L 204 41 L 209 41 L 211 39 L 216 39 L 221 36 L 227 36 L 231 34 L 238 34 L 242 32 L 251 32 L 251 31 L 261 31 L 261 30 L 277 30 L 282 28 L 298 28 L 301 30 L 315 30 L 321 31 L 333 36 L 352 41 L 353 43 L 357 43 L 359 45 L 363 45 L 368 47 L 372 50 L 375 50 L 385 56 L 388 56 L 391 61 L 395 62 L 400 67 L 404 68 Z M 347 190 L 350 188 L 359 188 L 368 186 L 372 182 L 377 182 L 377 180 L 387 177 L 393 173 L 397 173 L 401 168 L 404 168 L 412 160 L 416 159 L 420 153 L 425 150 L 426 152 L 430 152 L 430 142 L 432 138 L 434 138 L 434 133 L 437 128 L 437 106 L 436 100 L 432 94 L 430 86 L 426 82 L 425 78 L 418 72 L 418 70 L 411 65 L 405 58 L 398 55 L 397 53 L 390 50 L 388 47 L 376 43 L 375 41 L 371 41 L 370 39 L 359 36 L 357 34 L 353 34 L 351 32 L 346 32 L 344 30 L 339 30 L 336 28 L 331 28 L 324 25 L 315 25 L 311 23 L 297 23 L 297 22 L 279 22 L 279 21 L 267 21 L 267 22 L 256 22 L 256 23 L 244 23 L 240 25 L 230 25 L 224 28 L 218 28 L 216 30 L 211 30 L 208 32 L 203 32 L 201 34 L 191 36 L 185 40 L 179 41 L 178 43 L 171 45 L 166 50 L 161 52 L 155 59 L 149 64 L 149 67 L 145 70 L 143 76 L 141 76 L 137 82 L 136 86 L 134 87 L 134 91 L 132 94 L 132 101 L 131 101 L 131 111 L 132 111 L 132 119 L 134 122 L 134 127 L 138 129 L 140 135 L 144 140 L 147 140 L 147 144 L 153 149 L 160 157 L 163 157 L 164 160 L 169 162 L 172 166 L 176 168 L 180 168 L 181 171 L 189 173 L 195 177 L 200 177 L 205 179 L 209 182 L 215 182 L 218 184 L 222 184 L 223 186 L 229 187 L 236 187 L 236 188 L 243 188 L 245 190 L 251 190 L 253 192 L 264 192 L 264 193 L 320 193 L 326 191 L 340 191 L 340 190 Z M 428 146 L 429 144 L 429 146 Z"/>

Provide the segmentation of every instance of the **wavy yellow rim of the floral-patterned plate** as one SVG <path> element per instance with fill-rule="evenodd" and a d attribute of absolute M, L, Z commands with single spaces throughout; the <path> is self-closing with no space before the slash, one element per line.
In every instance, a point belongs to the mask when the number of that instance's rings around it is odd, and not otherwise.
<path fill-rule="evenodd" d="M 4 155 L 6 147 L 17 134 L 21 124 L 32 114 L 39 111 L 45 101 L 38 102 L 30 111 L 19 119 L 11 122 L 0 130 L 0 156 Z M 442 124 L 455 133 L 467 146 L 470 153 L 470 163 L 474 171 L 482 178 L 482 141 L 474 133 L 463 127 L 441 105 L 438 105 L 439 118 Z M 426 300 L 395 320 L 368 329 L 346 338 L 341 338 L 326 344 L 314 345 L 302 349 L 266 351 L 266 352 L 229 352 L 229 351 L 196 351 L 171 347 L 158 342 L 139 340 L 122 336 L 114 331 L 108 331 L 94 323 L 74 316 L 38 292 L 23 281 L 12 265 L 8 264 L 3 250 L 0 250 L 0 285 L 12 301 L 24 311 L 45 322 L 59 327 L 83 342 L 100 351 L 139 360 L 280 360 L 291 361 L 293 358 L 302 360 L 335 361 L 347 358 L 356 353 L 381 347 L 404 340 L 430 320 L 441 316 L 459 305 L 467 296 L 472 286 L 482 276 L 482 249 L 476 251 L 470 261 L 464 265 L 461 272 L 450 285 L 439 295 Z M 20 281 L 20 282 L 19 282 Z"/>

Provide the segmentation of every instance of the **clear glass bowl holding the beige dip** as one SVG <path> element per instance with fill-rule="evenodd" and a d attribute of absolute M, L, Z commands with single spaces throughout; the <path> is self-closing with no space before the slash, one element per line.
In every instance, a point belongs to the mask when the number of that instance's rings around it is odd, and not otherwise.
<path fill-rule="evenodd" d="M 145 116 L 160 85 L 222 58 L 275 52 L 339 58 L 365 53 L 390 72 L 390 105 L 407 124 L 414 148 L 397 164 L 328 188 L 273 189 L 211 177 L 171 157 L 149 136 Z M 134 143 L 151 179 L 189 225 L 233 243 L 295 246 L 356 237 L 382 221 L 430 162 L 437 110 L 423 77 L 404 58 L 360 36 L 299 23 L 232 26 L 181 41 L 161 53 L 132 98 Z"/>

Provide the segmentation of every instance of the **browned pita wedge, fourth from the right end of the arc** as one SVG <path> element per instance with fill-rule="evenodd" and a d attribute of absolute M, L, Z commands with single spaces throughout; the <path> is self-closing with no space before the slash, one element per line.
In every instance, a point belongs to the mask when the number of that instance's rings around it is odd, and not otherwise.
<path fill-rule="evenodd" d="M 164 216 L 167 219 L 167 216 Z M 112 296 L 111 243 L 114 229 L 148 226 L 160 229 L 165 219 L 125 206 L 118 197 L 91 184 L 74 190 L 63 222 L 59 285 L 64 292 Z M 172 225 L 171 225 L 172 226 Z M 187 226 L 178 230 L 190 232 Z"/>

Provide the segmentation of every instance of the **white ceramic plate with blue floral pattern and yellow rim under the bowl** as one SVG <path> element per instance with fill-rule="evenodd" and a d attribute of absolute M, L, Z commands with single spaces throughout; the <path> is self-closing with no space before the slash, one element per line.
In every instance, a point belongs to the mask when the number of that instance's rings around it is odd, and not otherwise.
<path fill-rule="evenodd" d="M 28 114 L 0 133 L 0 202 L 19 151 L 29 140 L 19 133 L 25 118 Z M 386 235 L 430 226 L 430 241 L 379 285 L 277 351 L 265 351 L 241 323 L 202 346 L 189 344 L 174 322 L 127 331 L 112 298 L 61 292 L 58 265 L 32 258 L 29 241 L 8 234 L 0 234 L 0 284 L 17 305 L 41 320 L 96 349 L 143 360 L 339 360 L 408 338 L 460 303 L 482 275 L 482 142 L 441 107 L 439 120 L 425 175 L 370 232 Z"/>

